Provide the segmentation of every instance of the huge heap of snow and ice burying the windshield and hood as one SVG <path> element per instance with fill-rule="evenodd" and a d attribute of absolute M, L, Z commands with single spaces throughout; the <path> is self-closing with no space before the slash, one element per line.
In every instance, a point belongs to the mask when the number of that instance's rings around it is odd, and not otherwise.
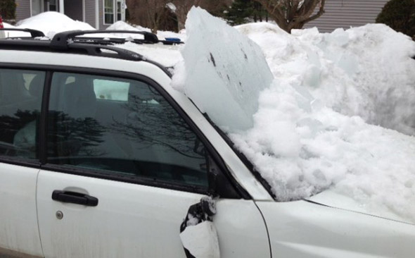
<path fill-rule="evenodd" d="M 192 26 L 201 24 L 200 20 L 213 19 L 205 16 L 197 8 L 189 13 L 186 21 L 189 40 L 183 49 L 185 69 L 182 64 L 177 67 L 174 82 L 176 87 L 181 83 L 184 92 L 213 121 L 227 128 L 229 121 L 235 120 L 233 113 L 226 113 L 229 109 L 226 104 L 233 101 L 229 94 L 235 90 L 232 82 L 245 83 L 249 77 L 240 75 L 228 79 L 222 75 L 222 81 L 219 80 L 219 73 L 237 74 L 234 70 L 240 67 L 234 64 L 241 60 L 237 55 L 224 55 L 215 58 L 217 66 L 209 66 L 208 60 L 212 62 L 212 59 L 208 51 L 245 51 L 250 41 L 232 35 L 234 40 L 226 42 L 232 29 L 219 22 L 203 23 L 203 30 L 200 27 L 192 30 Z M 275 79 L 269 87 L 260 81 L 251 85 L 251 93 L 244 101 L 258 103 L 253 128 L 234 130 L 229 135 L 272 186 L 276 198 L 300 199 L 331 188 L 356 199 L 370 211 L 376 210 L 376 214 L 392 211 L 415 222 L 412 205 L 415 202 L 415 137 L 365 121 L 372 122 L 371 116 L 389 116 L 390 110 L 393 118 L 399 110 L 400 115 L 414 110 L 415 97 L 411 93 L 411 82 L 415 81 L 411 70 L 414 61 L 410 60 L 414 44 L 379 25 L 331 35 L 321 35 L 316 30 L 288 35 L 267 24 L 245 25 L 238 30 L 260 43 Z M 215 37 L 210 36 L 212 31 Z M 363 39 L 362 35 L 371 39 Z M 202 47 L 198 45 L 200 42 Z M 390 51 L 391 42 L 395 44 L 392 46 L 395 51 Z M 247 66 L 244 69 L 248 75 L 260 77 L 264 73 L 267 76 L 261 55 L 251 52 L 247 58 L 250 62 L 244 63 Z M 192 69 L 195 66 L 203 73 Z M 376 76 L 381 77 L 376 80 Z M 397 80 L 400 87 L 395 85 Z M 205 98 L 200 101 L 194 94 Z M 371 109 L 377 101 L 391 108 Z M 398 101 L 404 104 L 397 104 Z M 219 115 L 215 113 L 217 106 L 222 110 Z M 362 117 L 346 116 L 340 111 L 352 115 L 362 113 Z M 229 116 L 228 120 L 224 114 Z"/>

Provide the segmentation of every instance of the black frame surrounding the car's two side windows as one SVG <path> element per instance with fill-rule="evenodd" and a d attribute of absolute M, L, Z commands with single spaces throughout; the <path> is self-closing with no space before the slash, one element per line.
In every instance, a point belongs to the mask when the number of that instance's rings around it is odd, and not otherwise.
<path fill-rule="evenodd" d="M 42 103 L 41 103 L 41 115 L 40 115 L 40 125 L 39 125 L 39 161 L 37 162 L 27 162 L 18 159 L 6 159 L 0 157 L 0 163 L 4 162 L 6 164 L 13 164 L 18 166 L 30 166 L 34 168 L 41 168 L 46 171 L 68 173 L 75 176 L 87 176 L 91 178 L 102 178 L 107 180 L 114 180 L 124 183 L 134 183 L 137 185 L 148 185 L 158 188 L 166 188 L 171 190 L 179 190 L 184 192 L 193 192 L 202 195 L 219 195 L 219 197 L 229 198 L 229 199 L 252 199 L 249 193 L 241 187 L 241 185 L 235 180 L 231 175 L 231 172 L 227 168 L 224 160 L 218 154 L 215 147 L 208 140 L 203 132 L 198 128 L 196 123 L 194 123 L 191 118 L 186 114 L 186 112 L 181 109 L 181 106 L 168 94 L 162 86 L 158 85 L 157 82 L 151 78 L 146 77 L 145 75 L 140 75 L 138 73 L 129 73 L 122 72 L 117 70 L 106 70 L 99 68 L 81 68 L 81 67 L 65 67 L 65 66 L 53 66 L 53 65 L 38 65 L 38 64 L 18 64 L 18 63 L 1 63 L 0 68 L 8 69 L 19 69 L 19 70 L 39 70 L 46 72 L 45 85 L 43 89 Z M 62 165 L 48 164 L 46 161 L 47 146 L 46 146 L 46 137 L 47 137 L 47 124 L 48 124 L 48 112 L 49 112 L 49 96 L 51 92 L 51 81 L 53 73 L 79 73 L 86 75 L 97 75 L 113 78 L 122 78 L 129 80 L 141 80 L 146 82 L 148 85 L 151 85 L 155 90 L 157 90 L 162 97 L 172 106 L 172 108 L 177 111 L 179 116 L 184 119 L 186 123 L 189 124 L 193 133 L 197 135 L 205 148 L 208 151 L 208 156 L 212 161 L 215 161 L 215 164 L 219 168 L 219 173 L 217 175 L 212 175 L 208 171 L 208 180 L 209 186 L 208 189 L 200 188 L 193 185 L 179 185 L 176 183 L 164 182 L 164 181 L 155 181 L 151 178 L 139 178 L 136 176 L 129 176 L 123 174 L 113 174 L 108 175 L 108 173 L 102 173 L 99 171 L 93 171 L 88 168 L 73 168 L 73 167 L 63 167 Z M 217 178 L 216 182 L 212 182 L 212 178 Z M 215 189 L 212 189 L 215 188 Z"/>

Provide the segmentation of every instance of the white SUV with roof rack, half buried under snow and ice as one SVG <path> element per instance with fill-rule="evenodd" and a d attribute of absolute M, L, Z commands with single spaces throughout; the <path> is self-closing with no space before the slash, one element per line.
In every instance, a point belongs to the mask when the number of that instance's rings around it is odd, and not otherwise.
<path fill-rule="evenodd" d="M 0 39 L 0 257 L 192 257 L 208 195 L 220 257 L 414 256 L 413 225 L 275 202 L 166 68 L 84 33 Z"/>

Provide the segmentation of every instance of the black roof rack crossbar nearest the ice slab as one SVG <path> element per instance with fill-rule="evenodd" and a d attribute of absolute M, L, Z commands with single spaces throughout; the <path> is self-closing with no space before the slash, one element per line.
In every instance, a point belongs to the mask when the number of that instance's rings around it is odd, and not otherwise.
<path fill-rule="evenodd" d="M 138 30 L 70 30 L 66 32 L 60 32 L 56 34 L 52 41 L 51 41 L 51 47 L 56 49 L 68 49 L 68 44 L 70 42 L 76 41 L 87 41 L 89 39 L 96 39 L 94 38 L 88 38 L 88 37 L 82 37 L 77 38 L 77 36 L 87 35 L 87 34 L 97 34 L 97 33 L 127 33 L 127 34 L 141 34 L 144 36 L 144 39 L 139 39 L 139 41 L 143 43 L 158 43 L 158 37 L 151 33 L 151 32 L 144 32 L 144 31 L 138 31 Z M 117 40 L 115 38 L 112 38 L 114 40 Z M 125 40 L 120 38 L 120 41 Z"/>

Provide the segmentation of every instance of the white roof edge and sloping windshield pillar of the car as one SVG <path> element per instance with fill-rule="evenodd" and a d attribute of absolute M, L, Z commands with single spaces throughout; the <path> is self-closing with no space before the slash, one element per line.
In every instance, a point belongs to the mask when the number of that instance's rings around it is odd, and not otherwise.
<path fill-rule="evenodd" d="M 33 65 L 62 66 L 65 68 L 86 69 L 96 68 L 103 70 L 113 70 L 120 72 L 136 73 L 151 78 L 164 90 L 170 94 L 183 111 L 196 123 L 198 128 L 209 139 L 212 145 L 229 168 L 234 179 L 250 193 L 253 199 L 272 200 L 272 196 L 262 186 L 262 184 L 252 175 L 245 164 L 238 158 L 234 150 L 227 145 L 224 139 L 217 133 L 215 128 L 207 121 L 197 107 L 183 93 L 174 90 L 170 85 L 171 78 L 160 68 L 152 63 L 145 61 L 125 61 L 100 56 L 85 56 L 79 54 L 56 54 L 49 52 L 36 51 L 0 51 L 1 63 L 14 63 L 15 65 L 25 66 L 27 60 L 31 60 Z M 63 57 L 67 56 L 67 57 Z M 87 71 L 86 71 L 87 72 Z"/>

